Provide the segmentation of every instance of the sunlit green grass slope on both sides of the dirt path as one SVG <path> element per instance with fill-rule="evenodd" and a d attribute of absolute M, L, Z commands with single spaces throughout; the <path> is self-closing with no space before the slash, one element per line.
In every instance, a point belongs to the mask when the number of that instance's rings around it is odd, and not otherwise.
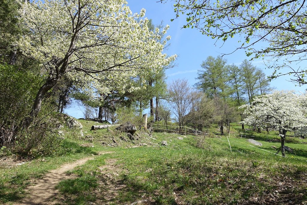
<path fill-rule="evenodd" d="M 63 156 L 0 169 L 3 177 L 0 179 L 0 201 L 24 197 L 30 178 L 41 177 L 61 164 L 101 150 L 111 153 L 96 156 L 67 172 L 70 179 L 57 186 L 59 197 L 65 199 L 60 204 L 131 204 L 140 199 L 165 205 L 290 204 L 290 200 L 299 204 L 307 200 L 307 145 L 303 144 L 306 139 L 290 137 L 286 146 L 294 152 L 286 153 L 285 158 L 273 154 L 277 150 L 271 146 L 279 148 L 280 142 L 268 142 L 279 139 L 275 132 L 267 135 L 247 131 L 262 143 L 261 149 L 245 138 L 231 135 L 232 152 L 225 136 L 188 135 L 179 140 L 180 135 L 161 132 L 153 134 L 156 140 L 152 143 L 166 140 L 167 147 L 125 148 L 128 142 L 122 142 L 119 147 L 103 147 L 100 141 L 110 137 L 110 131 L 90 131 L 91 123 L 81 121 L 83 125 L 86 123 L 83 131 L 96 136 L 94 148 L 81 148 L 78 144 L 84 143 L 83 139 L 68 137 L 67 154 Z M 238 135 L 236 126 L 232 124 L 231 131 Z M 111 167 L 107 163 L 110 159 L 115 163 Z M 108 177 L 110 169 L 118 175 Z M 112 189 L 119 186 L 122 188 Z"/>

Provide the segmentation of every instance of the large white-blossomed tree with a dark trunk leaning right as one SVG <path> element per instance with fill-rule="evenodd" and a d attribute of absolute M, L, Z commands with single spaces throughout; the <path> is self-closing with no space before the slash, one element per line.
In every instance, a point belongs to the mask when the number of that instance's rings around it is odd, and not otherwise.
<path fill-rule="evenodd" d="M 149 69 L 159 72 L 176 58 L 163 53 L 170 37 L 162 43 L 156 41 L 159 35 L 149 31 L 148 19 L 142 19 L 145 10 L 132 14 L 126 3 L 45 0 L 23 4 L 20 15 L 29 33 L 19 39 L 18 48 L 38 62 L 45 76 L 25 127 L 40 112 L 45 94 L 65 73 L 76 81 L 99 82 L 101 92 L 106 93 L 110 82 L 121 82 L 124 88 L 129 77 L 146 75 Z"/>

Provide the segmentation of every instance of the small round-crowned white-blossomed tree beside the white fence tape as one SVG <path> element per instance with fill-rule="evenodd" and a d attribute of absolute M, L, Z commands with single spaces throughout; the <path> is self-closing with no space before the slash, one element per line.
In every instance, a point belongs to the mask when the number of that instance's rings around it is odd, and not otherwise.
<path fill-rule="evenodd" d="M 274 127 L 279 131 L 282 144 L 282 156 L 285 156 L 286 132 L 307 124 L 306 113 L 302 107 L 305 95 L 296 95 L 293 91 L 275 91 L 272 94 L 255 97 L 251 105 L 243 105 L 247 116 L 242 123 L 262 128 Z"/>

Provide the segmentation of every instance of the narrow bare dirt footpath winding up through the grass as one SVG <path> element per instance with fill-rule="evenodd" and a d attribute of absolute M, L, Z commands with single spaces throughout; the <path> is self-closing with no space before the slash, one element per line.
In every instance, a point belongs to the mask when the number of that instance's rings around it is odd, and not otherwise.
<path fill-rule="evenodd" d="M 99 155 L 107 154 L 109 152 L 100 152 Z M 57 183 L 64 179 L 68 179 L 69 176 L 65 175 L 65 172 L 71 170 L 79 165 L 84 164 L 87 160 L 94 159 L 95 156 L 83 158 L 71 164 L 64 164 L 59 169 L 55 169 L 47 173 L 42 179 L 36 179 L 33 186 L 30 186 L 30 196 L 21 199 L 13 205 L 51 205 L 55 204 L 54 197 L 57 195 L 58 190 L 55 186 Z"/>

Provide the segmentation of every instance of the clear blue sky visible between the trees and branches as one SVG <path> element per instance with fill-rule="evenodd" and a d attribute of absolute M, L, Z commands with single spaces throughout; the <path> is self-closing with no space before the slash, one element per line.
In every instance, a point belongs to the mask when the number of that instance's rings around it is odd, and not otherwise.
<path fill-rule="evenodd" d="M 200 64 L 208 56 L 217 57 L 223 53 L 232 53 L 239 45 L 238 41 L 240 36 L 236 36 L 233 39 L 227 40 L 224 44 L 222 41 L 217 41 L 211 37 L 202 35 L 196 29 L 181 29 L 185 23 L 185 16 L 175 19 L 173 22 L 170 19 L 175 17 L 173 11 L 173 5 L 170 1 L 166 3 L 157 2 L 158 0 L 127 0 L 128 6 L 133 13 L 139 13 L 142 8 L 146 9 L 146 18 L 152 19 L 155 25 L 160 24 L 163 21 L 164 25 L 169 25 L 170 28 L 166 35 L 170 35 L 172 38 L 169 41 L 170 46 L 166 53 L 169 55 L 177 54 L 178 59 L 176 61 L 177 66 L 168 69 L 166 74 L 168 75 L 167 82 L 178 78 L 185 78 L 190 85 L 196 83 L 197 70 L 200 69 Z M 228 64 L 234 63 L 240 65 L 244 59 L 249 59 L 245 55 L 244 50 L 237 50 L 236 52 L 224 56 L 227 59 Z M 267 76 L 269 76 L 273 70 L 266 69 L 261 59 L 252 61 L 253 65 L 261 68 Z M 295 86 L 292 82 L 289 82 L 289 76 L 279 77 L 276 80 L 271 81 L 271 86 L 278 90 L 296 90 L 304 92 L 307 86 Z M 66 109 L 69 115 L 76 118 L 83 117 L 80 110 L 76 108 Z"/>

